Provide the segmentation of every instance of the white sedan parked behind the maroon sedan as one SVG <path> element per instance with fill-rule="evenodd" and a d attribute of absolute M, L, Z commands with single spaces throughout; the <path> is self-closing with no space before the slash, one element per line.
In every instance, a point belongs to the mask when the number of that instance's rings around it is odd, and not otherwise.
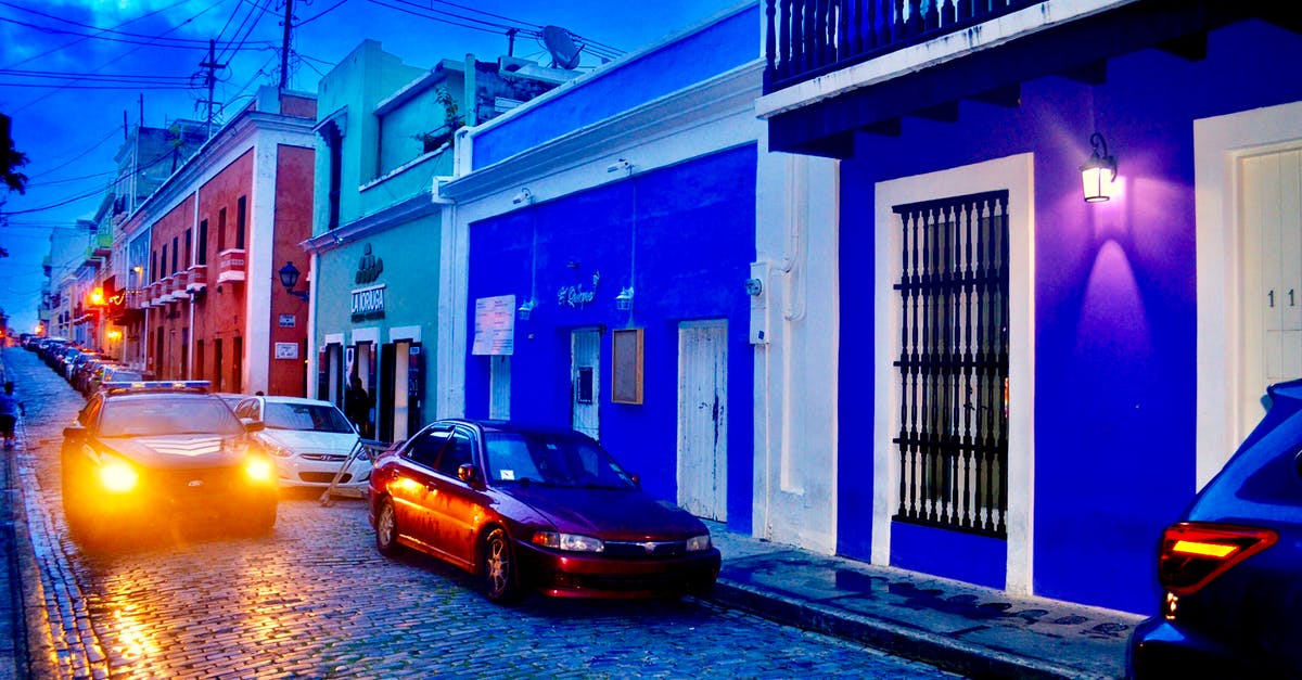
<path fill-rule="evenodd" d="M 276 461 L 281 487 L 329 487 L 340 466 L 335 492 L 366 496 L 371 461 L 359 446 L 353 423 L 329 401 L 285 396 L 251 396 L 236 404 L 236 416 L 262 422 L 254 436 Z"/>

